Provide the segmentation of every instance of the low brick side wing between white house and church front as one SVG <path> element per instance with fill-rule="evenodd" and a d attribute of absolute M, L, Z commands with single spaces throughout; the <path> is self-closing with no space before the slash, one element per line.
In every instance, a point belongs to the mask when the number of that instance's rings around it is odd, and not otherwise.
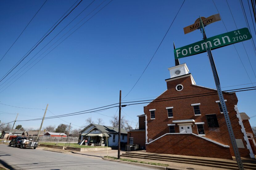
<path fill-rule="evenodd" d="M 127 134 L 127 144 L 130 143 L 129 137 L 133 137 L 133 144 L 139 144 L 139 147 L 142 146 L 145 148 L 145 141 L 146 141 L 146 132 L 145 131 L 133 131 L 128 132 Z"/>

